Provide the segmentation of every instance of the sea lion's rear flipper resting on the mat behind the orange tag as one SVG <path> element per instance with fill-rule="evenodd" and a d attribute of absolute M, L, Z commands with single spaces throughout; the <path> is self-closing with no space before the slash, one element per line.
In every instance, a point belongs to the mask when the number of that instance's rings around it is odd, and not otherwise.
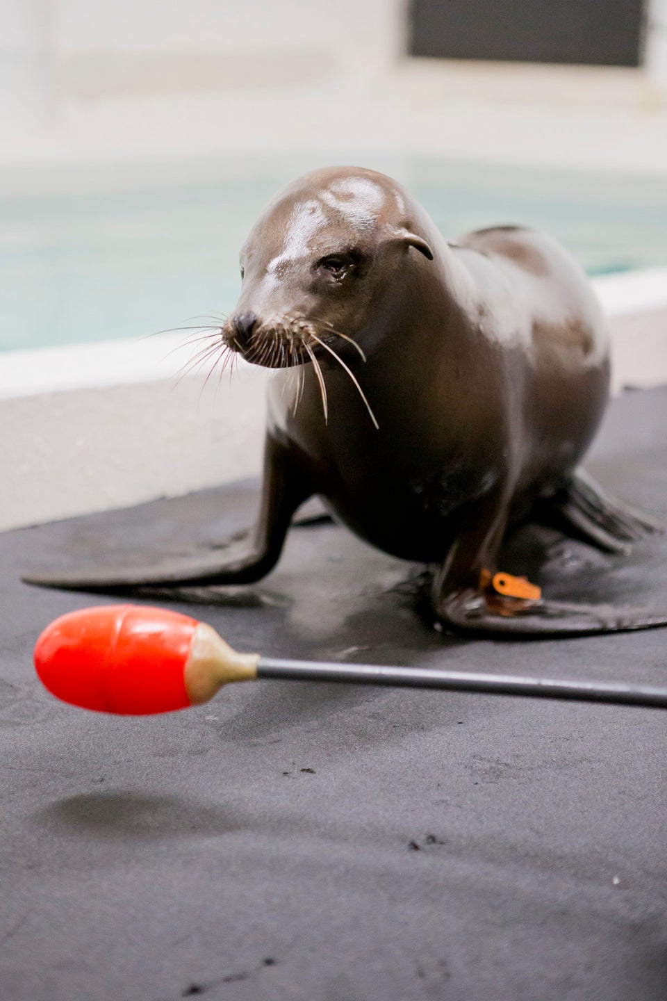
<path fill-rule="evenodd" d="M 627 553 L 632 543 L 661 534 L 664 526 L 607 493 L 584 469 L 552 497 L 539 502 L 546 521 L 565 522 L 569 529 L 608 553 Z"/>

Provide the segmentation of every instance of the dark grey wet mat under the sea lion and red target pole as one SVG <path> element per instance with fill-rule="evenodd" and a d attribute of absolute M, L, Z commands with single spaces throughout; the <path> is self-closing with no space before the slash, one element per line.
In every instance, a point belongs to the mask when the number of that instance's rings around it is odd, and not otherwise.
<path fill-rule="evenodd" d="M 667 519 L 667 390 L 617 400 L 587 464 Z M 255 496 L 0 536 L 0 997 L 662 1001 L 666 714 L 263 682 L 135 720 L 38 688 L 40 630 L 108 600 L 20 570 L 215 543 Z M 529 530 L 506 569 L 546 551 L 547 589 L 667 604 L 664 538 L 619 561 Z M 324 524 L 259 585 L 173 607 L 272 656 L 667 684 L 667 630 L 442 635 L 418 571 Z"/>

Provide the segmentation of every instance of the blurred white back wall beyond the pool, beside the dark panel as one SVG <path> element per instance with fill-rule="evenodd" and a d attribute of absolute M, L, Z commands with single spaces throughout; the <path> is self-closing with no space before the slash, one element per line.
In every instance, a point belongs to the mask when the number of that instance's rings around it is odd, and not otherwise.
<path fill-rule="evenodd" d="M 349 99 L 404 53 L 407 2 L 0 0 L 2 132 L 53 130 L 72 101 L 113 95 L 328 81 Z M 667 95 L 667 0 L 649 0 L 640 72 Z"/>

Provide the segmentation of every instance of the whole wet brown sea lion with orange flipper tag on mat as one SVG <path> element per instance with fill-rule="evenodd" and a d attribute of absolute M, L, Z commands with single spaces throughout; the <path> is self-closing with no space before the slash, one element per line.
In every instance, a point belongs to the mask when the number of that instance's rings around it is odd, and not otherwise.
<path fill-rule="evenodd" d="M 585 274 L 553 239 L 498 226 L 447 243 L 391 178 L 331 167 L 269 204 L 240 262 L 218 336 L 277 369 L 254 532 L 204 559 L 29 581 L 248 584 L 318 494 L 361 539 L 436 565 L 433 608 L 449 626 L 548 635 L 667 622 L 549 602 L 499 573 L 508 526 L 538 502 L 610 551 L 658 531 L 576 471 L 607 403 L 609 343 Z"/>

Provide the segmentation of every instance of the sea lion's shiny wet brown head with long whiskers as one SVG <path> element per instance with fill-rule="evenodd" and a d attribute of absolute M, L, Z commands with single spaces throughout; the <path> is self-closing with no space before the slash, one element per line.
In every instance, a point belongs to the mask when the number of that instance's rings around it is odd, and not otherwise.
<path fill-rule="evenodd" d="M 268 205 L 240 254 L 242 289 L 222 327 L 248 361 L 288 367 L 359 352 L 405 258 L 433 259 L 423 221 L 391 178 L 358 167 L 306 174 Z"/>

